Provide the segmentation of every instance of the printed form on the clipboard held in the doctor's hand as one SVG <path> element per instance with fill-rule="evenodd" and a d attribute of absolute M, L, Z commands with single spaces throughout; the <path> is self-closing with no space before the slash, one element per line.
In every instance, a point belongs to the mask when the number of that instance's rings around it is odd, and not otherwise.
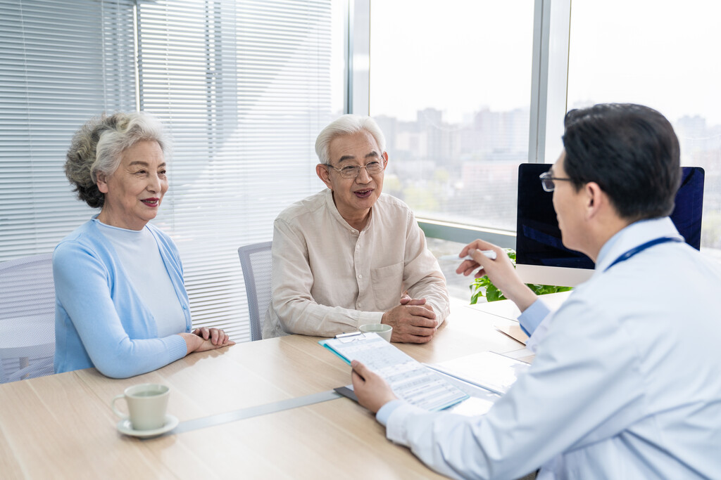
<path fill-rule="evenodd" d="M 441 410 L 468 398 L 438 372 L 407 356 L 376 333 L 320 340 L 346 363 L 358 360 L 382 376 L 400 399 L 427 410 Z"/>

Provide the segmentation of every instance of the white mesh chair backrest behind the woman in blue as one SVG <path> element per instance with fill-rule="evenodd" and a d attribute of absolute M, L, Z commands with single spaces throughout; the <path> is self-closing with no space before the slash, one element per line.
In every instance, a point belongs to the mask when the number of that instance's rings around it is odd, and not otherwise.
<path fill-rule="evenodd" d="M 53 255 L 0 263 L 0 382 L 53 373 Z"/>

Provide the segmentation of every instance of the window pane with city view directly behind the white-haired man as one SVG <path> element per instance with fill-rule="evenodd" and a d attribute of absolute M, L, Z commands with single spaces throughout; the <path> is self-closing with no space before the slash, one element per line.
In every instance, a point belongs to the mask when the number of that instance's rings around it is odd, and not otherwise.
<path fill-rule="evenodd" d="M 371 4 L 370 113 L 384 191 L 419 217 L 516 230 L 528 161 L 534 1 Z"/>

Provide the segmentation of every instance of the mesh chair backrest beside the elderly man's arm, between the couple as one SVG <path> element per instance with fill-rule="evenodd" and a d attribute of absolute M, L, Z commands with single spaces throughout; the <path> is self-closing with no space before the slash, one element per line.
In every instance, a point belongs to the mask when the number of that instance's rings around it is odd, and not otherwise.
<path fill-rule="evenodd" d="M 262 340 L 263 338 L 263 321 L 272 294 L 270 285 L 271 245 L 273 242 L 252 243 L 238 249 L 245 279 L 245 294 L 248 297 L 250 340 Z"/>

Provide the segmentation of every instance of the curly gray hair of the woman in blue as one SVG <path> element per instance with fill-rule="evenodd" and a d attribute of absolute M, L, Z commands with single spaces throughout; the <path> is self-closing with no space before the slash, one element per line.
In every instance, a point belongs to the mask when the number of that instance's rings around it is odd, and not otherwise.
<path fill-rule="evenodd" d="M 110 176 L 118 170 L 123 152 L 142 140 L 155 140 L 169 153 L 170 140 L 158 119 L 145 112 L 118 112 L 89 119 L 75 132 L 66 155 L 65 176 L 78 199 L 101 208 L 105 194 L 97 189 L 97 173 Z"/>

